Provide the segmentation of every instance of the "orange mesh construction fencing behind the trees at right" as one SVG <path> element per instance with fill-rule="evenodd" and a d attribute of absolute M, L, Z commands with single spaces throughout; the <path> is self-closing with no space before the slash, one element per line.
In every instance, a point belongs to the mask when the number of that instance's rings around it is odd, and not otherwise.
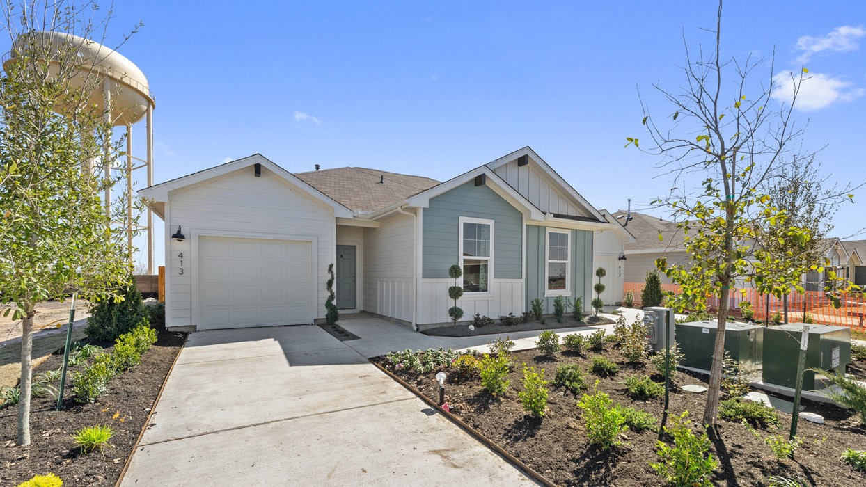
<path fill-rule="evenodd" d="M 624 284 L 624 292 L 635 293 L 635 304 L 640 304 L 643 283 L 628 282 Z M 663 284 L 662 291 L 680 292 L 680 286 L 675 284 Z M 792 292 L 788 295 L 788 322 L 801 323 L 804 316 L 808 314 L 811 321 L 816 324 L 832 324 L 836 326 L 848 326 L 853 330 L 866 330 L 866 298 L 863 292 L 836 292 L 842 305 L 833 307 L 830 293 L 823 291 Z M 754 319 L 766 320 L 767 313 L 772 318 L 777 312 L 784 315 L 785 303 L 775 296 L 759 294 L 754 289 L 732 289 L 728 298 L 728 307 L 734 314 L 739 314 L 740 304 L 748 301 L 754 310 Z M 719 299 L 708 298 L 707 305 L 711 310 L 718 309 Z"/>

